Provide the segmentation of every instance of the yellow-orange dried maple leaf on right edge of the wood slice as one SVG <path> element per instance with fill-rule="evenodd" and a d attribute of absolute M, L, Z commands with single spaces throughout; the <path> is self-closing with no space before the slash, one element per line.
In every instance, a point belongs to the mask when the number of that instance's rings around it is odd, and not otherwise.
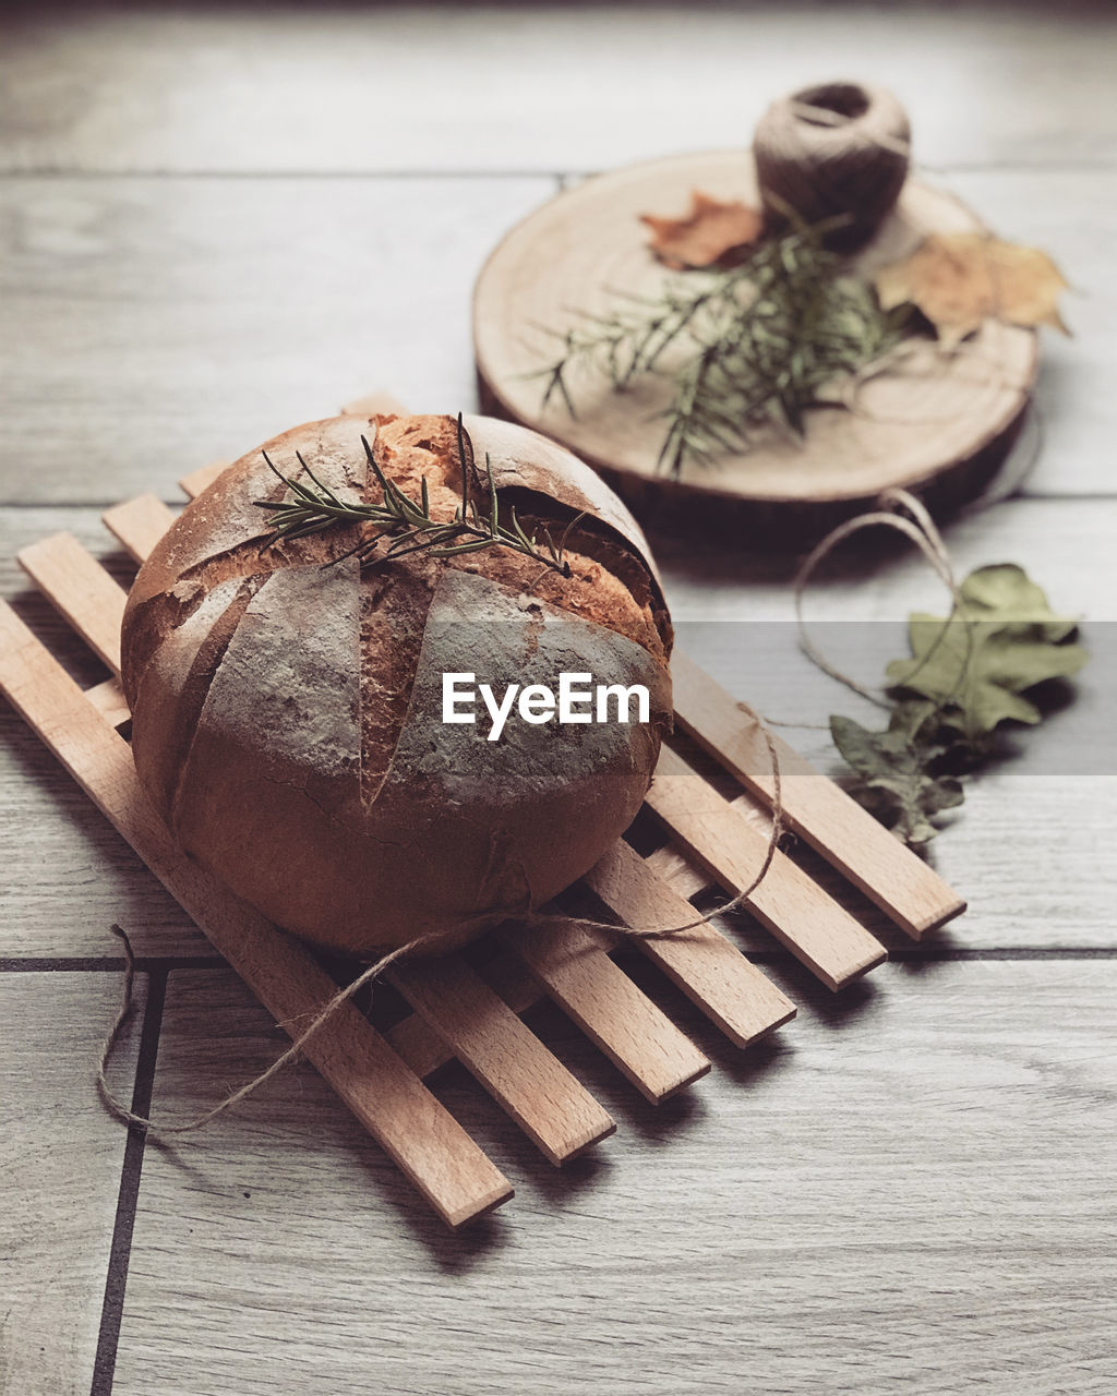
<path fill-rule="evenodd" d="M 987 233 L 931 233 L 906 261 L 875 275 L 881 306 L 917 306 L 954 348 L 983 320 L 1051 325 L 1067 289 L 1058 267 L 1036 247 L 1018 247 Z"/>

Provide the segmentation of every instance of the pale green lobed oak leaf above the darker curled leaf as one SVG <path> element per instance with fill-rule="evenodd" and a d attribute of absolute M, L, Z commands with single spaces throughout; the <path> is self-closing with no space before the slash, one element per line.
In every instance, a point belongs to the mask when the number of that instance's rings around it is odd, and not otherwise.
<path fill-rule="evenodd" d="M 1068 644 L 1075 621 L 1056 616 L 1028 574 L 1004 563 L 979 567 L 962 582 L 962 611 L 949 621 L 915 614 L 912 659 L 888 666 L 888 678 L 940 708 L 941 722 L 977 741 L 1007 719 L 1036 723 L 1040 711 L 1022 697 L 1049 678 L 1070 678 L 1086 662 Z"/>

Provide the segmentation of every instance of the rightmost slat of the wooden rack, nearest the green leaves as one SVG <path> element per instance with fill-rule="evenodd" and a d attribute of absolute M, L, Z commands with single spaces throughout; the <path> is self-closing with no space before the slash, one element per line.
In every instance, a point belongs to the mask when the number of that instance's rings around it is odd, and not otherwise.
<path fill-rule="evenodd" d="M 771 761 L 755 720 L 680 651 L 672 658 L 672 683 L 683 732 L 771 805 Z M 898 926 L 919 938 L 965 910 L 966 903 L 934 868 L 782 737 L 774 740 L 787 824 Z"/>

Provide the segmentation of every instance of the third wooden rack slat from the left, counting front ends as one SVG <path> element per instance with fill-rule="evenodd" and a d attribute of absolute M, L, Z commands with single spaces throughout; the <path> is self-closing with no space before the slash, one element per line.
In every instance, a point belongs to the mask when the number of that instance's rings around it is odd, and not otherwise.
<path fill-rule="evenodd" d="M 709 1058 L 578 926 L 511 926 L 503 941 L 652 1104 L 709 1071 Z"/>

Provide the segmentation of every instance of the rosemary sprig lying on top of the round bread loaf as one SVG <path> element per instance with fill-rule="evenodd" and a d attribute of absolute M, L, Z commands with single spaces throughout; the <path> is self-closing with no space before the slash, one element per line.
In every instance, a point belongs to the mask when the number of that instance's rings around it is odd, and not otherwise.
<path fill-rule="evenodd" d="M 262 452 L 268 469 L 286 484 L 295 498 L 278 503 L 275 500 L 253 501 L 258 508 L 271 511 L 268 524 L 272 532 L 264 540 L 261 550 L 279 540 L 288 542 L 321 533 L 335 525 L 367 524 L 373 526 L 373 532 L 364 535 L 349 551 L 327 563 L 327 567 L 348 557 L 357 557 L 362 567 L 376 567 L 392 558 L 408 557 L 410 553 L 427 553 L 430 557 L 457 557 L 461 553 L 478 553 L 486 547 L 508 547 L 542 563 L 545 568 L 558 572 L 561 577 L 571 575 L 570 563 L 565 558 L 565 542 L 571 529 L 585 515 L 575 515 L 567 524 L 557 543 L 546 528 L 539 533 L 529 533 L 517 518 L 515 507 L 508 510 L 505 522 L 500 512 L 493 462 L 487 452 L 484 456 L 487 510 L 478 510 L 476 503 L 469 497 L 469 465 L 473 459 L 473 448 L 461 413 L 458 413 L 458 455 L 462 472 L 462 497 L 451 519 L 431 517 L 426 476 L 419 482 L 419 498 L 412 498 L 384 475 L 367 438 L 362 437 L 360 441 L 369 459 L 369 469 L 376 476 L 381 490 L 381 498 L 371 504 L 339 498 L 328 484 L 324 484 L 314 475 L 299 451 L 295 452 L 295 456 L 311 484 L 283 475 L 272 463 L 268 452 Z M 392 540 L 391 544 L 383 553 L 377 553 L 380 540 L 385 537 Z"/>

